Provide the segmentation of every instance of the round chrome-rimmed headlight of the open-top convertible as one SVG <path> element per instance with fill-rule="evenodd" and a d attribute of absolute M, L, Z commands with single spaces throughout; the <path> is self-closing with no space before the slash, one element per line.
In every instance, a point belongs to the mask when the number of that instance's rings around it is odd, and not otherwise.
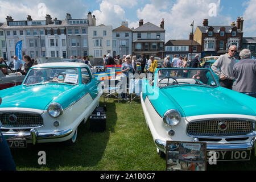
<path fill-rule="evenodd" d="M 167 110 L 166 113 L 164 113 L 163 117 L 164 123 L 170 126 L 176 126 L 177 124 L 179 124 L 180 119 L 180 113 L 175 109 Z"/>

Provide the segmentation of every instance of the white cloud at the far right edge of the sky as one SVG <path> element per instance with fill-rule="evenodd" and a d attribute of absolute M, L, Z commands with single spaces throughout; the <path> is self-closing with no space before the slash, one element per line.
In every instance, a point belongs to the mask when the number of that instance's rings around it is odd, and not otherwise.
<path fill-rule="evenodd" d="M 256 35 L 256 0 L 250 0 L 243 4 L 247 6 L 243 13 L 243 36 L 255 36 Z"/>

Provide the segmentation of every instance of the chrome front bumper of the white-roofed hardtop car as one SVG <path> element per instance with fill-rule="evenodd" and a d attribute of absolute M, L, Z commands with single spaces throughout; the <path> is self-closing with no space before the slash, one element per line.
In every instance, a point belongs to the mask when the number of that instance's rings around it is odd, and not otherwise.
<path fill-rule="evenodd" d="M 32 140 L 32 143 L 36 144 L 38 140 L 63 138 L 63 137 L 67 137 L 72 132 L 73 132 L 72 129 L 67 129 L 63 131 L 39 133 L 36 129 L 31 129 L 30 133 L 3 133 L 3 136 L 7 140 L 15 140 L 15 139 L 21 139 L 21 138 L 26 140 Z"/>

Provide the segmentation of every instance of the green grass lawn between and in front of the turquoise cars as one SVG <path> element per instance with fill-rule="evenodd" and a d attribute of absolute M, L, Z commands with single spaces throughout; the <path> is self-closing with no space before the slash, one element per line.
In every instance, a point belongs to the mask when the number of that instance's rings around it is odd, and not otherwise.
<path fill-rule="evenodd" d="M 103 105 L 101 98 L 100 105 Z M 106 131 L 92 133 L 89 122 L 81 124 L 77 142 L 72 147 L 62 143 L 28 145 L 12 148 L 18 170 L 148 170 L 164 171 L 166 161 L 158 156 L 150 131 L 144 119 L 141 103 L 133 104 L 110 99 Z M 46 165 L 38 164 L 38 152 L 46 152 Z M 222 162 L 207 166 L 208 170 L 255 170 L 256 158 L 250 162 Z"/>

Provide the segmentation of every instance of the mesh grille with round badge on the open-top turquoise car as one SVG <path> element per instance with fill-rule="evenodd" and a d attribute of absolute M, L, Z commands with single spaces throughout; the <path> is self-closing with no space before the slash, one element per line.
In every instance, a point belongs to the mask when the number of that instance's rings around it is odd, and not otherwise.
<path fill-rule="evenodd" d="M 218 124 L 225 122 L 226 130 L 218 129 Z M 235 119 L 212 119 L 207 121 L 196 121 L 188 124 L 187 134 L 191 136 L 235 136 L 246 135 L 253 132 L 253 122 Z"/>

